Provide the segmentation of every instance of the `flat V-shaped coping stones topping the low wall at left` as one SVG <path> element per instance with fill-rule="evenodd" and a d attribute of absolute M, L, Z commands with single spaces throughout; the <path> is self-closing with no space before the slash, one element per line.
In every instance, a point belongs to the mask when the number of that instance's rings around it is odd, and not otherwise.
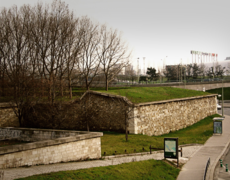
<path fill-rule="evenodd" d="M 0 155 L 13 153 L 13 152 L 20 152 L 26 151 L 31 149 L 37 149 L 47 146 L 54 146 L 74 141 L 81 141 L 85 139 L 92 139 L 103 136 L 101 132 L 87 132 L 87 131 L 68 131 L 68 130 L 53 130 L 53 129 L 35 129 L 35 128 L 14 128 L 14 127 L 6 127 L 1 129 L 12 129 L 12 130 L 28 130 L 28 131 L 58 131 L 58 132 L 79 132 L 76 136 L 70 137 L 63 137 L 63 138 L 56 138 L 51 140 L 44 140 L 44 141 L 37 141 L 32 143 L 25 143 L 25 144 L 18 144 L 18 145 L 10 145 L 5 147 L 0 147 Z"/>

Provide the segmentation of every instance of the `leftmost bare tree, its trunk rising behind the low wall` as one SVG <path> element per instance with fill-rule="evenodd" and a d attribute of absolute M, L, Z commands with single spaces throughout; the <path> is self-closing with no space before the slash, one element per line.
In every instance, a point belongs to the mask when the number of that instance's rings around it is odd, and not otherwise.
<path fill-rule="evenodd" d="M 11 105 L 22 124 L 22 116 L 32 100 L 35 92 L 33 81 L 36 65 L 30 57 L 33 51 L 30 23 L 31 8 L 13 6 L 10 9 L 2 9 L 1 19 L 1 64 L 3 65 L 4 85 L 8 91 L 13 91 Z M 38 83 L 36 83 L 38 85 Z"/>

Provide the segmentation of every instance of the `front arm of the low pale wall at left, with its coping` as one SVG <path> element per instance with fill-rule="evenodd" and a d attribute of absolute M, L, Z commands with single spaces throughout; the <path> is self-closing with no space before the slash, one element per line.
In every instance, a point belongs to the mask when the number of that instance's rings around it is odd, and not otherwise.
<path fill-rule="evenodd" d="M 102 135 L 81 133 L 53 140 L 0 147 L 0 168 L 98 159 L 101 157 Z"/>

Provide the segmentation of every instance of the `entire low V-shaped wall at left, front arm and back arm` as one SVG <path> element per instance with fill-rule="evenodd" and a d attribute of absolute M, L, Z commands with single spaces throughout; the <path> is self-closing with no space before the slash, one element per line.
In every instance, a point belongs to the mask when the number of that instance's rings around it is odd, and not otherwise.
<path fill-rule="evenodd" d="M 12 132 L 9 133 L 10 131 Z M 52 136 L 52 131 L 56 134 L 56 137 L 60 136 L 61 138 L 0 147 L 0 168 L 98 159 L 101 157 L 100 137 L 103 136 L 103 133 L 39 129 L 28 129 L 27 131 L 26 128 L 0 129 L 2 138 L 5 136 L 5 139 L 27 140 L 35 140 L 38 134 L 40 139 L 42 139 L 42 134 L 44 135 L 43 139 L 48 139 Z M 25 138 L 26 134 L 27 138 Z M 31 136 L 31 134 L 34 134 L 34 136 Z"/>

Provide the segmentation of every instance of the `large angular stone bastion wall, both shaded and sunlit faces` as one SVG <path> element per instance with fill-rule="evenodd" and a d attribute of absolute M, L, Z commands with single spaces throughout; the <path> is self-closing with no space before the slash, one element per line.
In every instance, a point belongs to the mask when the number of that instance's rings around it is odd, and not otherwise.
<path fill-rule="evenodd" d="M 37 104 L 24 119 L 24 127 L 125 132 L 161 135 L 185 128 L 217 113 L 216 95 L 132 104 L 126 97 L 94 91 L 68 104 Z M 50 113 L 52 112 L 52 113 Z"/>

